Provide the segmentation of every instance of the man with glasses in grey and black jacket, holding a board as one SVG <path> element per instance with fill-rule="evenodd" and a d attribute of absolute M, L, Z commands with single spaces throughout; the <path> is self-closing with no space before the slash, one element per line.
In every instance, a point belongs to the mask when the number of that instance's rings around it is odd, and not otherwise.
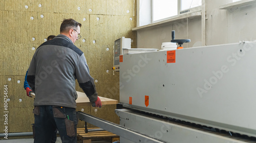
<path fill-rule="evenodd" d="M 36 95 L 34 142 L 50 142 L 56 128 L 62 142 L 76 142 L 75 79 L 93 106 L 101 107 L 84 53 L 74 45 L 81 38 L 80 27 L 74 19 L 63 20 L 60 35 L 34 53 L 27 76 Z"/>

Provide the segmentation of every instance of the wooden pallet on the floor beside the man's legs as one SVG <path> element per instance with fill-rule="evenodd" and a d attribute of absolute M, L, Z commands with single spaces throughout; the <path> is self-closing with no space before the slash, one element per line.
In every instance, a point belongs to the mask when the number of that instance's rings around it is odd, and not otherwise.
<path fill-rule="evenodd" d="M 97 128 L 88 128 L 97 129 Z M 92 143 L 92 142 L 114 142 L 120 140 L 119 136 L 108 131 L 88 132 L 84 128 L 77 129 L 77 142 L 78 143 Z"/>

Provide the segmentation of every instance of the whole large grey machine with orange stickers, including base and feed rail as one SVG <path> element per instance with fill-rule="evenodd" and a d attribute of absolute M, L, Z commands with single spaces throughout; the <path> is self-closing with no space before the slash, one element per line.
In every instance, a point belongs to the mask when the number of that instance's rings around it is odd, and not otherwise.
<path fill-rule="evenodd" d="M 121 142 L 256 142 L 255 53 L 240 42 L 121 54 L 120 125 L 78 118 Z"/>

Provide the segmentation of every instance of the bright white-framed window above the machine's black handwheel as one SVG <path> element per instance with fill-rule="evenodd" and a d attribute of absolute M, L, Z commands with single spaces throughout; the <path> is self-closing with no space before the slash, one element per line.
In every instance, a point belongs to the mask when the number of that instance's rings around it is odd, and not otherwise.
<path fill-rule="evenodd" d="M 192 8 L 194 8 L 194 11 L 199 11 L 201 5 L 202 0 L 152 0 L 151 22 L 154 23 L 182 13 L 193 12 Z"/>

